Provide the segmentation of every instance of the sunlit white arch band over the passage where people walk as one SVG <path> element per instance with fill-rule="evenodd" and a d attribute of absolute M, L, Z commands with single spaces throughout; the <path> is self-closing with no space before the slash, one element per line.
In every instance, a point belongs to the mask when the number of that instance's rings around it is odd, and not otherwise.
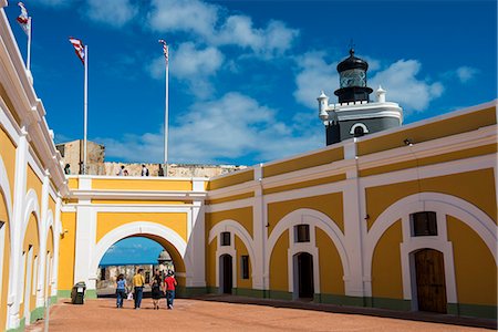
<path fill-rule="evenodd" d="M 90 264 L 90 273 L 93 274 L 98 268 L 98 263 L 104 257 L 105 252 L 115 242 L 128 238 L 132 236 L 144 236 L 159 238 L 170 243 L 179 253 L 181 259 L 185 260 L 185 252 L 187 250 L 187 242 L 169 227 L 149 222 L 149 221 L 135 221 L 120 226 L 112 231 L 107 232 L 95 246 L 92 255 L 92 261 Z M 184 262 L 179 262 L 184 263 Z"/>

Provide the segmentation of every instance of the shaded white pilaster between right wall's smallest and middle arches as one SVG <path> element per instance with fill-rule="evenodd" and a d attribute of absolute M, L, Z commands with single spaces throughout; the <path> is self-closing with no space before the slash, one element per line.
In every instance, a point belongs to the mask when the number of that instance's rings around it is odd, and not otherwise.
<path fill-rule="evenodd" d="M 252 269 L 252 288 L 259 290 L 268 289 L 268 271 L 264 271 L 264 256 L 267 248 L 267 214 L 262 193 L 262 164 L 255 167 L 255 180 L 259 184 L 255 190 L 252 206 L 252 243 L 255 249 L 255 261 L 250 262 Z"/>

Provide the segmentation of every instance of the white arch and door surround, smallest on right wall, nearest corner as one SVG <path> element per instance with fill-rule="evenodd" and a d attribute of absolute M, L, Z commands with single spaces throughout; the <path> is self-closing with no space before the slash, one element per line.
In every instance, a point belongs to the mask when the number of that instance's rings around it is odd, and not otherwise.
<path fill-rule="evenodd" d="M 219 287 L 220 286 L 220 276 L 219 276 L 219 258 L 224 255 L 230 255 L 232 258 L 232 287 L 237 287 L 237 250 L 235 248 L 235 235 L 237 235 L 240 240 L 242 241 L 242 243 L 246 246 L 246 249 L 249 253 L 249 261 L 251 263 L 251 271 L 252 271 L 252 287 L 255 287 L 255 282 L 256 282 L 256 278 L 255 278 L 255 271 L 256 271 L 256 261 L 255 261 L 255 248 L 252 245 L 252 237 L 249 235 L 249 232 L 246 230 L 246 228 L 243 228 L 243 226 L 241 226 L 239 222 L 232 220 L 232 219 L 227 219 L 224 221 L 220 221 L 218 224 L 215 225 L 215 227 L 211 228 L 211 230 L 209 231 L 209 237 L 208 237 L 208 243 L 210 243 L 215 238 L 219 238 L 219 235 L 224 231 L 229 231 L 230 232 L 230 246 L 224 246 L 220 247 L 218 245 L 217 250 L 216 250 L 216 286 Z M 235 260 L 235 261 L 234 261 Z"/>

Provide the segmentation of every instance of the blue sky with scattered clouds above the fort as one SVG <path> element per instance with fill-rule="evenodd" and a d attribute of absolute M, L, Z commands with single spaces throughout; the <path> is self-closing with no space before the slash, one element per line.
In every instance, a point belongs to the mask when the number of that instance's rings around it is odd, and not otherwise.
<path fill-rule="evenodd" d="M 25 35 L 6 9 L 21 53 Z M 317 96 L 331 101 L 336 63 L 370 63 L 369 85 L 405 123 L 497 94 L 496 1 L 25 0 L 34 87 L 58 142 L 83 136 L 107 160 L 163 159 L 164 60 L 170 44 L 169 160 L 253 165 L 324 146 Z"/>

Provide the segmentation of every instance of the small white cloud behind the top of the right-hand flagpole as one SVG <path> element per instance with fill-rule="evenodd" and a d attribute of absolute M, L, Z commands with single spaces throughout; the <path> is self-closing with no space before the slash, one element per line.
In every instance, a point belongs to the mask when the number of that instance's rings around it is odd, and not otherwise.
<path fill-rule="evenodd" d="M 206 98 L 212 93 L 210 76 L 221 68 L 225 56 L 216 48 L 198 49 L 194 43 L 187 42 L 170 49 L 170 74 L 185 82 L 189 91 L 200 98 Z M 154 59 L 146 71 L 154 79 L 163 79 L 165 75 L 164 56 Z"/>

